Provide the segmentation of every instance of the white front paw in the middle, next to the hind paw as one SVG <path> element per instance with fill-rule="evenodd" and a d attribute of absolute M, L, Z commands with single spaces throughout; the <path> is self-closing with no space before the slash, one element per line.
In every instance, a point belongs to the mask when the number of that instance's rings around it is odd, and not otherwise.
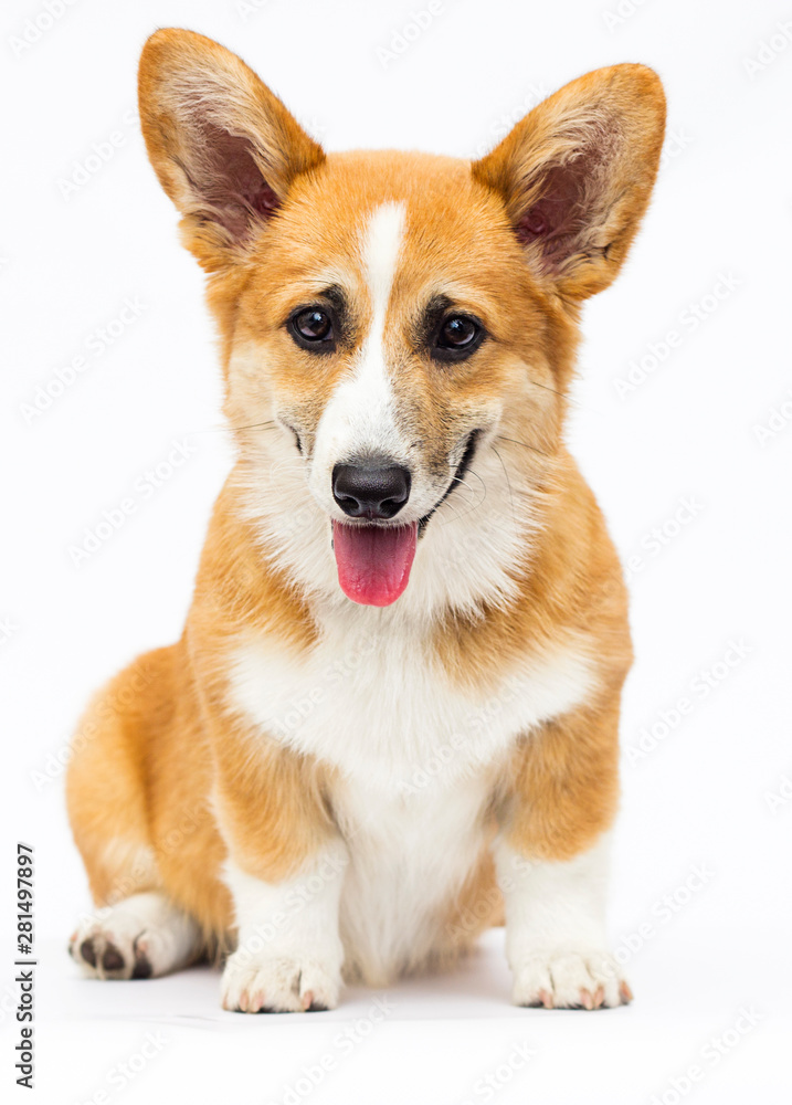
<path fill-rule="evenodd" d="M 223 971 L 222 1006 L 242 1013 L 335 1009 L 340 988 L 340 969 L 317 959 L 235 951 Z"/>

